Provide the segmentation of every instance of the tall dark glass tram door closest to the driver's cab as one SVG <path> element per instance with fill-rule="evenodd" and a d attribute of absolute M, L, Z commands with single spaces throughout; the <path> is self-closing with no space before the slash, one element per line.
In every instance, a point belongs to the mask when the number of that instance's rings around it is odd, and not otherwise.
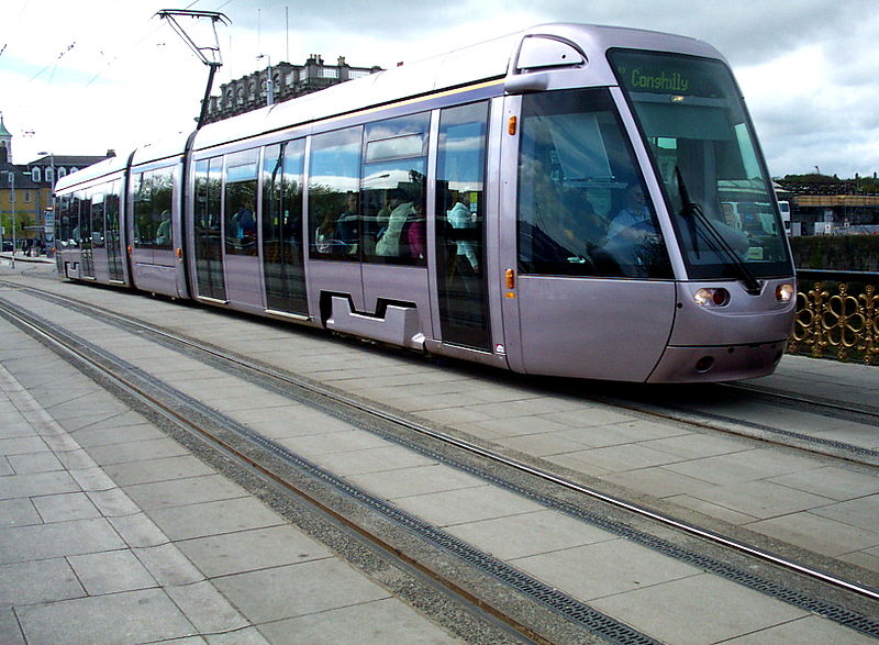
<path fill-rule="evenodd" d="M 486 289 L 488 102 L 439 114 L 436 162 L 436 286 L 442 341 L 490 351 Z"/>

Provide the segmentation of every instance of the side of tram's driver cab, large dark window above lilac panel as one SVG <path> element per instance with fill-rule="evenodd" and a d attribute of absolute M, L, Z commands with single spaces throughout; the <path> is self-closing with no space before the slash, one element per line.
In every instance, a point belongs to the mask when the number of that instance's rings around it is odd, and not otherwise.
<path fill-rule="evenodd" d="M 646 379 L 675 283 L 661 241 L 636 256 L 610 227 L 633 186 L 642 208 L 647 193 L 610 91 L 508 97 L 504 115 L 498 279 L 510 366 Z"/>

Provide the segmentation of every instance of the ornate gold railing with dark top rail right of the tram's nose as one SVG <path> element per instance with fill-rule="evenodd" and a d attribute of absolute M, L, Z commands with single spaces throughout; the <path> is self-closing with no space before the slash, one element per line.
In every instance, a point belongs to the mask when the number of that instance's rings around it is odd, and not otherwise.
<path fill-rule="evenodd" d="M 879 365 L 876 274 L 798 271 L 790 354 Z"/>

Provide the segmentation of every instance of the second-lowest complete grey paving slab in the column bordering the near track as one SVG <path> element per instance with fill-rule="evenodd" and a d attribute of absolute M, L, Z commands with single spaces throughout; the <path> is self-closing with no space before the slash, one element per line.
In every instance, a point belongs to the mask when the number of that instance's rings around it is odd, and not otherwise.
<path fill-rule="evenodd" d="M 177 546 L 209 578 L 333 557 L 329 548 L 287 525 L 186 540 Z"/>

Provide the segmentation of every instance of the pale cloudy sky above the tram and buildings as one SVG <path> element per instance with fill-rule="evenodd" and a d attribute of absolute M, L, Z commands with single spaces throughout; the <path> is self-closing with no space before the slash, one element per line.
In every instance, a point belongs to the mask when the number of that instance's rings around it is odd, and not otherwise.
<path fill-rule="evenodd" d="M 391 68 L 546 22 L 692 36 L 730 62 L 772 176 L 879 171 L 876 0 L 174 1 L 0 2 L 0 112 L 14 163 L 121 153 L 193 130 L 208 67 L 155 16 L 190 9 L 230 21 L 218 24 L 214 94 L 269 59 Z M 180 24 L 214 44 L 210 21 Z"/>

